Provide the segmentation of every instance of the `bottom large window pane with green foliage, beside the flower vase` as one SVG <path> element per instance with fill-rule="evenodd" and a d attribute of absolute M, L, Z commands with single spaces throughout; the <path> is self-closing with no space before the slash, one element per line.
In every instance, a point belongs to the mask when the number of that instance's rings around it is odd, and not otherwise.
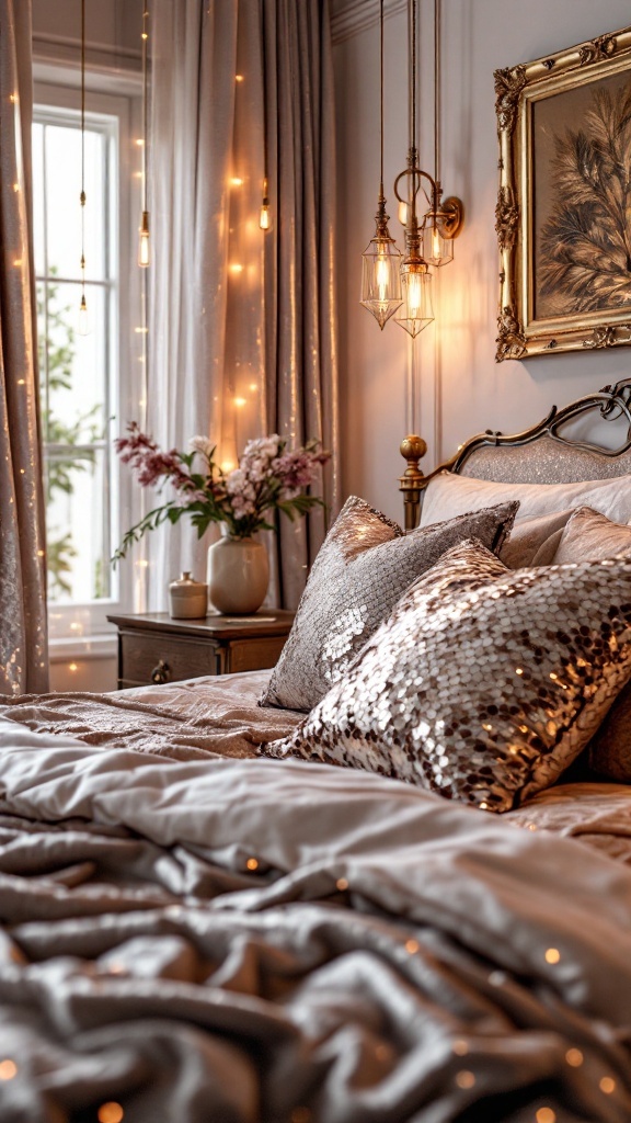
<path fill-rule="evenodd" d="M 48 597 L 54 604 L 85 604 L 112 595 L 104 449 L 77 456 L 49 454 Z"/>

